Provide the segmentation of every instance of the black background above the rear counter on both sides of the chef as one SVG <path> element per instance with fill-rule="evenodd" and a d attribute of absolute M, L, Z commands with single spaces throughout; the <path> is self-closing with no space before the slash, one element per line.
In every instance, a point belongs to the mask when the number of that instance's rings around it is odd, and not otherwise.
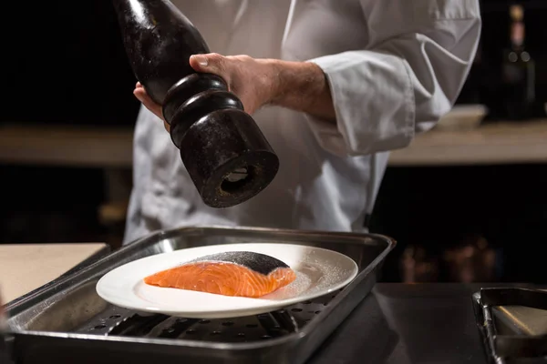
<path fill-rule="evenodd" d="M 487 104 L 493 117 L 500 103 L 510 4 L 481 0 L 480 62 L 458 100 Z M 538 64 L 538 99 L 547 100 L 547 0 L 520 4 L 526 9 L 527 44 Z M 2 68 L 10 94 L 0 121 L 133 125 L 139 107 L 132 96 L 135 79 L 110 0 L 10 1 L 3 14 Z"/>

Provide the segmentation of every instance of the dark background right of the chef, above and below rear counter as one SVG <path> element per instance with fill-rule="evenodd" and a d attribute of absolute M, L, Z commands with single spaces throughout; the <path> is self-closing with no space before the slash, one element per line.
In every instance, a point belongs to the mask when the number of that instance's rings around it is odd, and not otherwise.
<path fill-rule="evenodd" d="M 486 104 L 490 122 L 504 117 L 501 62 L 515 3 L 537 68 L 533 117 L 545 117 L 547 0 L 482 0 L 480 49 L 458 102 Z M 388 167 L 370 226 L 397 239 L 384 279 L 547 283 L 545 186 L 546 164 Z"/>

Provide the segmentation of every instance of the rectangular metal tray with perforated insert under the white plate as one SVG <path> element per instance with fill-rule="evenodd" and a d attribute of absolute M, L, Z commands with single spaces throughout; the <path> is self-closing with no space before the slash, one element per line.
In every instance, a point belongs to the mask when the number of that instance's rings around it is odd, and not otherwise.
<path fill-rule="evenodd" d="M 238 319 L 180 319 L 119 308 L 98 279 L 129 261 L 214 244 L 283 242 L 327 248 L 359 268 L 345 288 L 313 301 Z M 253 227 L 182 227 L 154 233 L 6 306 L 5 347 L 27 363 L 304 363 L 377 282 L 392 238 Z M 363 323 L 366 325 L 366 322 Z"/>

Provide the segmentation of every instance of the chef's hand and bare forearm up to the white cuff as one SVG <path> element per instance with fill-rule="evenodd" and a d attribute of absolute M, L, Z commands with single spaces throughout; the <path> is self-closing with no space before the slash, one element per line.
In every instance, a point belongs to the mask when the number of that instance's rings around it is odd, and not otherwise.
<path fill-rule="evenodd" d="M 330 88 L 323 70 L 310 62 L 286 62 L 250 56 L 194 55 L 190 65 L 196 72 L 221 76 L 228 89 L 240 98 L 250 115 L 265 105 L 284 106 L 335 122 Z M 153 102 L 137 83 L 133 94 L 152 113 L 165 121 L 161 106 Z"/>

